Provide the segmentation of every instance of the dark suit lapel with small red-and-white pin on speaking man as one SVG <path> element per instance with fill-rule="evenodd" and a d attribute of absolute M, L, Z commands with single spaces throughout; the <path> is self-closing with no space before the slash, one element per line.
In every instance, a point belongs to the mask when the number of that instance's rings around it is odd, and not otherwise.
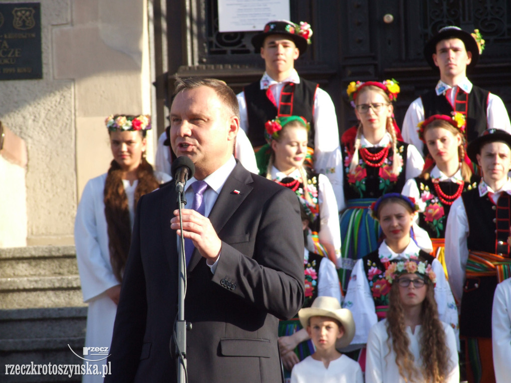
<path fill-rule="evenodd" d="M 225 181 L 220 194 L 213 205 L 210 216 L 208 217 L 217 233 L 222 230 L 225 223 L 233 216 L 243 200 L 252 191 L 252 176 L 240 163 L 236 164 L 234 170 Z M 239 193 L 236 193 L 235 190 Z M 222 239 L 222 238 L 220 238 Z M 188 265 L 187 272 L 191 272 L 199 263 L 201 255 L 194 250 L 192 259 Z"/>

